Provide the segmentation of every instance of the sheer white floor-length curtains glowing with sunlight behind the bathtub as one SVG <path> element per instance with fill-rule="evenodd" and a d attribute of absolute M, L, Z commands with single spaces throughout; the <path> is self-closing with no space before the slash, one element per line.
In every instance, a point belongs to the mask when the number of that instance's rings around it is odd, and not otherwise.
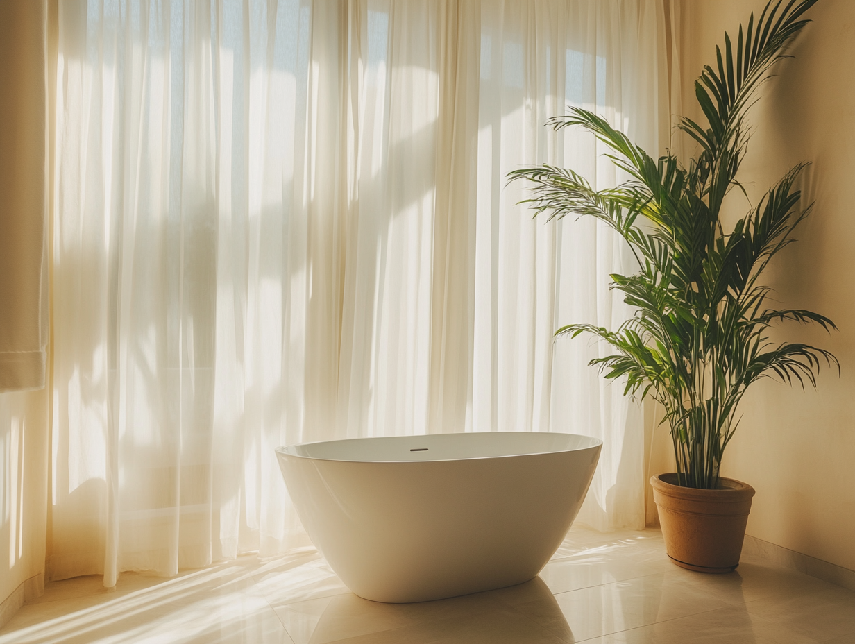
<path fill-rule="evenodd" d="M 642 526 L 639 410 L 552 337 L 627 253 L 504 177 L 620 179 L 568 105 L 663 148 L 664 2 L 60 3 L 50 576 L 304 543 L 302 440 L 595 435 L 581 520 Z"/>

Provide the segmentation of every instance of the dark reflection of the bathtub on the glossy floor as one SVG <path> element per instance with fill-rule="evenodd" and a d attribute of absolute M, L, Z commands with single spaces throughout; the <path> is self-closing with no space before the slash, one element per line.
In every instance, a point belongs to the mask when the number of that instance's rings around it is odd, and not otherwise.
<path fill-rule="evenodd" d="M 327 598 L 309 643 L 351 637 L 373 644 L 575 641 L 540 577 L 509 588 L 417 604 L 382 604 L 355 594 Z"/>

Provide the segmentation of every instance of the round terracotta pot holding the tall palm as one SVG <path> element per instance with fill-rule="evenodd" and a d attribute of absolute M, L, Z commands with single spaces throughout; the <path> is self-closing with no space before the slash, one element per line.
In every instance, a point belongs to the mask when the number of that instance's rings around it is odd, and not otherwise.
<path fill-rule="evenodd" d="M 715 490 L 681 487 L 675 473 L 652 476 L 650 484 L 669 558 L 688 570 L 735 570 L 754 488 L 723 476 Z"/>

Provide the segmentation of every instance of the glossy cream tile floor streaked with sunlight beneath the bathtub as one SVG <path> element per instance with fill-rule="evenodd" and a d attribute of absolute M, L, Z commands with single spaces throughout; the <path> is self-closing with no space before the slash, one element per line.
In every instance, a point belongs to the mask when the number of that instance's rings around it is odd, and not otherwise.
<path fill-rule="evenodd" d="M 0 644 L 855 644 L 855 592 L 763 560 L 704 575 L 665 558 L 656 530 L 570 531 L 540 576 L 423 604 L 348 592 L 314 550 L 245 556 L 165 579 L 125 573 L 47 585 L 0 629 Z"/>

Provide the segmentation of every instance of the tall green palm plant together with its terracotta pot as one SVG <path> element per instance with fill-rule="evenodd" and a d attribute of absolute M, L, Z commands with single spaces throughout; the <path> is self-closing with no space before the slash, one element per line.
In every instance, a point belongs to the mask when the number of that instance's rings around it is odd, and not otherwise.
<path fill-rule="evenodd" d="M 716 68 L 706 66 L 695 96 L 708 127 L 687 118 L 679 128 L 698 152 L 684 165 L 668 153 L 654 160 L 609 123 L 586 109 L 551 119 L 556 130 L 583 127 L 610 148 L 629 179 L 595 191 L 572 170 L 543 165 L 510 173 L 527 180 L 536 214 L 549 219 L 593 216 L 614 228 L 638 263 L 634 275 L 611 275 L 635 314 L 620 328 L 569 324 L 557 334 L 593 334 L 614 353 L 591 361 L 606 378 L 625 378 L 625 393 L 662 405 L 670 427 L 676 472 L 651 479 L 669 557 L 693 570 L 726 572 L 739 564 L 754 493 L 720 476 L 725 447 L 734 435 L 740 400 L 752 382 L 771 376 L 816 386 L 820 363 L 840 365 L 829 352 L 769 339 L 775 322 L 835 328 L 809 310 L 769 308 L 761 277 L 793 241 L 811 210 L 800 207 L 792 168 L 732 227 L 722 221 L 722 201 L 734 187 L 746 153 L 746 112 L 769 70 L 801 31 L 816 0 L 766 5 L 751 15 L 735 45 L 727 33 L 716 47 Z"/>

